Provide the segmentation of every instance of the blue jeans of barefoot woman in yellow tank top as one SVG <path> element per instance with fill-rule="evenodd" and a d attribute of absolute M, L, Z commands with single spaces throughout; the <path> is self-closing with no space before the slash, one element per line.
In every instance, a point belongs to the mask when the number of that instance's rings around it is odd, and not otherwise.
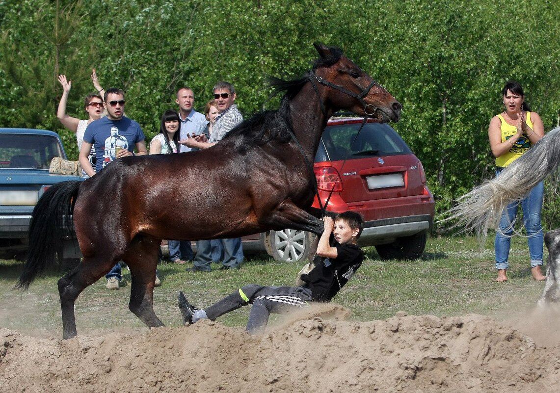
<path fill-rule="evenodd" d="M 500 170 L 496 171 L 496 175 Z M 529 245 L 529 258 L 531 268 L 543 264 L 543 228 L 540 222 L 540 211 L 543 208 L 544 183 L 541 181 L 531 189 L 529 195 L 521 202 L 507 205 L 503 210 L 496 238 L 494 239 L 494 252 L 496 252 L 496 269 L 507 269 L 507 256 L 510 254 L 511 236 L 514 232 L 511 223 L 517 216 L 519 204 L 523 210 L 523 223 L 527 231 L 527 244 Z"/>

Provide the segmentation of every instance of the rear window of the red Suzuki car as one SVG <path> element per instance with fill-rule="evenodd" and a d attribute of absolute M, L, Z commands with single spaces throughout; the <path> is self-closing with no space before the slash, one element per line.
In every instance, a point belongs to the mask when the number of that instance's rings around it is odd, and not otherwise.
<path fill-rule="evenodd" d="M 328 125 L 321 136 L 315 161 L 412 154 L 403 139 L 388 124 L 362 123 Z"/>

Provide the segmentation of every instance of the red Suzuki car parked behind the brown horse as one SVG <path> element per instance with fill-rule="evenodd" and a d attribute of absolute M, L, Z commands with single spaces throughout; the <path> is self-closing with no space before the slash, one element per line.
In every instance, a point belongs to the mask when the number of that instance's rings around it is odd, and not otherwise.
<path fill-rule="evenodd" d="M 383 259 L 416 259 L 426 246 L 435 202 L 422 163 L 389 124 L 361 118 L 332 118 L 315 156 L 315 177 L 323 205 L 360 213 L 365 225 L 359 246 L 375 246 Z M 314 207 L 319 208 L 318 200 Z M 246 252 L 267 251 L 274 259 L 306 258 L 310 233 L 269 231 L 245 236 Z"/>

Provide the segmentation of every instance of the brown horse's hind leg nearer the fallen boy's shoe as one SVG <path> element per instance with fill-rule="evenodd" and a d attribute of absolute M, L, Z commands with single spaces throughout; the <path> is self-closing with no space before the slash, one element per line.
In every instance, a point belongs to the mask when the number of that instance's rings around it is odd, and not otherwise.
<path fill-rule="evenodd" d="M 153 311 L 153 286 L 160 244 L 159 239 L 138 235 L 133 239 L 124 257 L 132 277 L 128 308 L 148 328 L 164 326 Z"/>

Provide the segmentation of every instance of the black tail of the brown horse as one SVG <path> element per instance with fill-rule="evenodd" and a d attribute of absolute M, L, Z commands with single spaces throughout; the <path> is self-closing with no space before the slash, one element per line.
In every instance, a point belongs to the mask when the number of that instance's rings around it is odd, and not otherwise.
<path fill-rule="evenodd" d="M 80 180 L 63 181 L 39 198 L 31 213 L 27 260 L 16 288 L 29 288 L 38 274 L 55 265 L 64 235 L 73 230 L 72 213 L 80 185 Z"/>

